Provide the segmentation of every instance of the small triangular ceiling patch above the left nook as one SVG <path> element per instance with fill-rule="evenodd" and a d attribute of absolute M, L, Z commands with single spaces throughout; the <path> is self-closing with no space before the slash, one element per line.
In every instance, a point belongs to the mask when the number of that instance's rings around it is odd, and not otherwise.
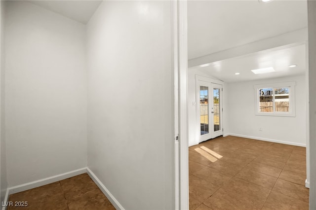
<path fill-rule="evenodd" d="M 28 2 L 86 24 L 102 0 L 29 0 Z"/>

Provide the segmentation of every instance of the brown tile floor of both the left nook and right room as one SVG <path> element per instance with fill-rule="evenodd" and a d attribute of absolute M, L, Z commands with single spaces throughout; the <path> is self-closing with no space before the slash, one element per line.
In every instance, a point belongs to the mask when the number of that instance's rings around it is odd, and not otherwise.
<path fill-rule="evenodd" d="M 218 137 L 189 147 L 190 210 L 308 210 L 305 147 Z M 115 210 L 87 175 L 12 194 L 8 210 Z"/>

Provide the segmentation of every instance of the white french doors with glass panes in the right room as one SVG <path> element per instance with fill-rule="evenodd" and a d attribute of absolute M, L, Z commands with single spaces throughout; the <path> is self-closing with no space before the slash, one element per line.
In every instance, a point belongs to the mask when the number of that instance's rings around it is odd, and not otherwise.
<path fill-rule="evenodd" d="M 197 80 L 198 142 L 223 135 L 222 111 L 222 85 Z"/>

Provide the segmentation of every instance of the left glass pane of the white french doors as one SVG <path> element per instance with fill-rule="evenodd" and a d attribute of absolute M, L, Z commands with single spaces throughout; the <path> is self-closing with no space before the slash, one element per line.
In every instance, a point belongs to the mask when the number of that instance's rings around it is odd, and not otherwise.
<path fill-rule="evenodd" d="M 200 135 L 208 134 L 208 87 L 200 86 L 199 90 L 200 107 Z"/>

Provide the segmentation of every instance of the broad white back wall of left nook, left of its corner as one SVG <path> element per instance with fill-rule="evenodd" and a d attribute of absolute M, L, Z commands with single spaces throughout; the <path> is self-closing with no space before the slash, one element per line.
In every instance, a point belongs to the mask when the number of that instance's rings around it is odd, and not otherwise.
<path fill-rule="evenodd" d="M 24 1 L 6 8 L 8 185 L 86 166 L 85 26 Z"/>

